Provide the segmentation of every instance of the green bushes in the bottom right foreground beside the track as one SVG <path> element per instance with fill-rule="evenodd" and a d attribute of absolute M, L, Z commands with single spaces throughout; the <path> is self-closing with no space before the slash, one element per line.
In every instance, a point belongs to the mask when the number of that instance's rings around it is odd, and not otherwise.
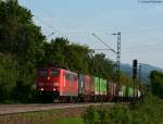
<path fill-rule="evenodd" d="M 148 94 L 138 102 L 106 108 L 88 108 L 85 124 L 163 124 L 163 100 Z M 96 117 L 90 117 L 93 110 Z M 86 116 L 88 115 L 88 116 Z M 86 123 L 87 122 L 87 123 Z"/>

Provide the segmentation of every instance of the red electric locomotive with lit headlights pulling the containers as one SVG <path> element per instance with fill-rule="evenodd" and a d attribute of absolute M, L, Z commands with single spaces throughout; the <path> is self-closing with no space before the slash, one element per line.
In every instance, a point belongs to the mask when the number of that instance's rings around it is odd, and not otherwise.
<path fill-rule="evenodd" d="M 78 75 L 71 71 L 57 67 L 37 70 L 36 90 L 41 98 L 53 100 L 77 99 Z"/>

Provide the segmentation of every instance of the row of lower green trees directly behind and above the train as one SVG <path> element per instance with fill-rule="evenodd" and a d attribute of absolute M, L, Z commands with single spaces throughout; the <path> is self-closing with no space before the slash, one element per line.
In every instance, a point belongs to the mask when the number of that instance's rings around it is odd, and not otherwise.
<path fill-rule="evenodd" d="M 83 74 L 108 78 L 113 75 L 113 62 L 103 53 L 93 54 L 87 46 L 70 44 L 67 39 L 57 38 L 43 45 L 45 57 L 41 63 L 51 62 Z"/>

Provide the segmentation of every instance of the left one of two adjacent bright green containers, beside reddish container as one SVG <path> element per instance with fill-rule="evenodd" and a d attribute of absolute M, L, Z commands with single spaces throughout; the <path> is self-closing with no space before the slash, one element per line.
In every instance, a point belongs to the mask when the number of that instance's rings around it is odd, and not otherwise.
<path fill-rule="evenodd" d="M 99 95 L 100 94 L 100 78 L 93 76 L 93 83 L 95 83 L 95 95 Z"/>

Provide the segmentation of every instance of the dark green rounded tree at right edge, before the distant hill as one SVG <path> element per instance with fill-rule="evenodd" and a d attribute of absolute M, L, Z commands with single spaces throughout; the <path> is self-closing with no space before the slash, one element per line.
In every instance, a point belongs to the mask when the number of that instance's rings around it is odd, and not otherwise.
<path fill-rule="evenodd" d="M 152 71 L 150 74 L 150 80 L 153 95 L 163 98 L 163 73 L 159 71 Z"/>

